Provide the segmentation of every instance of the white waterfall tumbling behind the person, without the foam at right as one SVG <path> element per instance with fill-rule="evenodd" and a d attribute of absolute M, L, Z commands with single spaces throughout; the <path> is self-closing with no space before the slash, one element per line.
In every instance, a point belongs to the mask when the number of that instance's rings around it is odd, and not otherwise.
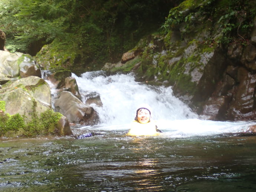
<path fill-rule="evenodd" d="M 135 117 L 135 111 L 141 103 L 147 103 L 152 108 L 155 120 L 176 120 L 196 118 L 197 115 L 173 96 L 171 87 L 150 86 L 135 82 L 132 73 L 106 76 L 104 72 L 86 72 L 76 78 L 79 92 L 83 96 L 97 92 L 103 106 L 93 106 L 103 125 L 118 125 L 130 123 Z"/>

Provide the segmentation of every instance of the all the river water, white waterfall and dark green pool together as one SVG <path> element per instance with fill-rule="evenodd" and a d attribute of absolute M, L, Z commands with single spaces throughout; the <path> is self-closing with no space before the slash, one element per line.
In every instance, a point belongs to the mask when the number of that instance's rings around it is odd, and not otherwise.
<path fill-rule="evenodd" d="M 99 94 L 103 106 L 92 105 L 98 125 L 72 131 L 101 135 L 1 138 L 0 192 L 256 190 L 256 137 L 244 133 L 255 122 L 202 120 L 171 87 L 144 85 L 132 74 L 73 76 L 83 101 Z M 163 135 L 125 135 L 141 103 L 150 104 Z"/>

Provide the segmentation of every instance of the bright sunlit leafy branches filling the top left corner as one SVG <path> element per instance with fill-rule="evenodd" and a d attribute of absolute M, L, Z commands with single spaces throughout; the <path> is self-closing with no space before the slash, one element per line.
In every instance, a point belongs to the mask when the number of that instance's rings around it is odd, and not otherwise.
<path fill-rule="evenodd" d="M 63 4 L 65 1 L 2 0 L 0 28 L 6 33 L 7 48 L 28 52 L 35 43 L 52 41 L 69 17 Z M 63 17 L 64 14 L 67 17 Z"/>

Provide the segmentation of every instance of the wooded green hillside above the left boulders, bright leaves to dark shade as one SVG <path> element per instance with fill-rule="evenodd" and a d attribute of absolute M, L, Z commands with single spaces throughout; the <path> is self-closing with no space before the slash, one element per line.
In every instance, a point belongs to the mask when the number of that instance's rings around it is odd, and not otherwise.
<path fill-rule="evenodd" d="M 156 31 L 175 1 L 1 0 L 0 28 L 11 52 L 37 55 L 45 67 L 100 69 Z"/>

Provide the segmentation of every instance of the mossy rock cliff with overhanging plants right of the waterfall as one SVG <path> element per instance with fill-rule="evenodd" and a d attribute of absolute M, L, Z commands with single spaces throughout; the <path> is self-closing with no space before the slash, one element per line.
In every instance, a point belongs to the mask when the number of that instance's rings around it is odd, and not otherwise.
<path fill-rule="evenodd" d="M 166 33 L 145 37 L 103 70 L 134 71 L 139 81 L 172 86 L 204 119 L 255 120 L 254 1 L 184 1 L 170 10 Z"/>

